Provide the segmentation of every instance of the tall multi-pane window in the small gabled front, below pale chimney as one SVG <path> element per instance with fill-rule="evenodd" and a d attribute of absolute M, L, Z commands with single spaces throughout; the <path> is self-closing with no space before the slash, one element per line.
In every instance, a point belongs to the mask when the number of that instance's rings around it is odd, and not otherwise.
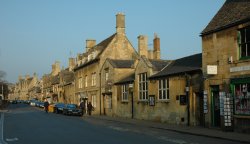
<path fill-rule="evenodd" d="M 147 73 L 139 74 L 139 100 L 148 99 Z"/>

